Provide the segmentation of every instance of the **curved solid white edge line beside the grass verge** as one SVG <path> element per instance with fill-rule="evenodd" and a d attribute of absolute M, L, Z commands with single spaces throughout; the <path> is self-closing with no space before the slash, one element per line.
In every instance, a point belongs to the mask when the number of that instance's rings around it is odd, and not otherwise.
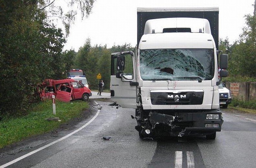
<path fill-rule="evenodd" d="M 94 102 L 95 102 L 96 104 L 98 104 L 96 101 L 94 101 Z M 84 127 L 88 126 L 88 125 L 99 115 L 99 113 L 100 113 L 100 110 L 97 111 L 97 113 L 95 114 L 95 116 L 94 116 L 89 122 L 87 122 L 85 125 L 83 125 L 83 126 L 81 126 L 80 128 L 78 128 L 77 130 L 71 132 L 70 134 L 68 134 L 68 135 L 66 135 L 66 136 L 63 136 L 62 138 L 57 139 L 56 141 L 53 141 L 52 143 L 49 143 L 48 145 L 42 146 L 42 147 L 40 147 L 40 148 L 38 148 L 38 149 L 36 149 L 36 150 L 34 150 L 34 151 L 32 151 L 32 152 L 29 152 L 28 154 L 25 154 L 25 155 L 23 155 L 23 156 L 20 156 L 20 157 L 18 157 L 17 159 L 11 161 L 11 162 L 5 163 L 5 164 L 1 165 L 0 168 L 4 168 L 4 167 L 7 167 L 7 166 L 9 166 L 9 165 L 11 165 L 11 164 L 13 164 L 13 163 L 16 163 L 16 162 L 18 162 L 18 161 L 20 161 L 20 160 L 26 158 L 27 156 L 30 156 L 30 155 L 32 155 L 32 154 L 35 154 L 35 153 L 37 153 L 37 152 L 39 152 L 39 151 L 41 151 L 41 150 L 43 150 L 43 149 L 45 149 L 45 148 L 47 148 L 47 147 L 53 145 L 53 144 L 56 144 L 57 142 L 62 141 L 63 139 L 66 139 L 66 138 L 68 138 L 69 136 L 71 136 L 71 135 L 77 133 L 78 131 L 80 131 L 80 130 L 83 129 Z M 181 154 L 181 157 L 182 157 L 182 154 Z M 182 162 L 181 162 L 181 163 L 182 163 Z"/>

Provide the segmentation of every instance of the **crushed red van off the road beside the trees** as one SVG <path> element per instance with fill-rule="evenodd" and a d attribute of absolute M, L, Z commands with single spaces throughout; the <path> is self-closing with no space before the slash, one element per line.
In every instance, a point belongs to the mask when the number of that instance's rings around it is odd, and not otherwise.
<path fill-rule="evenodd" d="M 45 79 L 41 84 L 41 88 L 43 88 L 40 92 L 42 99 L 51 98 L 52 95 L 55 95 L 58 100 L 65 102 L 75 99 L 87 101 L 92 95 L 89 88 L 84 87 L 84 85 L 74 79 Z"/>

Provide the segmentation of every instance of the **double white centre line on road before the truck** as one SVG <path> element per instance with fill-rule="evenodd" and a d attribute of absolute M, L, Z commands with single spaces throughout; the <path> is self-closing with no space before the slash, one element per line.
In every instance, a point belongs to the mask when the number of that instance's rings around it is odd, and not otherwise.
<path fill-rule="evenodd" d="M 193 152 L 187 151 L 187 167 L 195 168 Z M 182 151 L 175 152 L 175 168 L 182 168 Z"/>

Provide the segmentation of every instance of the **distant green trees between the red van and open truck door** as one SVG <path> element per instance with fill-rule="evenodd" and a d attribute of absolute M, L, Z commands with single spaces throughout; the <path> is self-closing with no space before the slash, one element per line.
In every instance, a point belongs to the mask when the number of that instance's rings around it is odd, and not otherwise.
<path fill-rule="evenodd" d="M 91 47 L 90 39 L 87 39 L 84 46 L 80 47 L 75 67 L 85 72 L 86 78 L 90 83 L 90 89 L 97 89 L 99 79 L 96 79 L 96 76 L 98 73 L 101 74 L 102 80 L 105 83 L 105 89 L 109 89 L 111 53 L 120 51 L 135 51 L 135 47 L 131 47 L 130 44 L 114 45 L 110 49 L 106 45 Z"/>

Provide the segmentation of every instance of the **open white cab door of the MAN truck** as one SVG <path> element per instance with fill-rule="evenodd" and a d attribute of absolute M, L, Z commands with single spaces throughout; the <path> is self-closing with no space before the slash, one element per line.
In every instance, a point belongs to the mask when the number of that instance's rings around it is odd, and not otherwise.
<path fill-rule="evenodd" d="M 132 51 L 111 54 L 111 99 L 123 108 L 136 108 L 135 58 Z"/>

